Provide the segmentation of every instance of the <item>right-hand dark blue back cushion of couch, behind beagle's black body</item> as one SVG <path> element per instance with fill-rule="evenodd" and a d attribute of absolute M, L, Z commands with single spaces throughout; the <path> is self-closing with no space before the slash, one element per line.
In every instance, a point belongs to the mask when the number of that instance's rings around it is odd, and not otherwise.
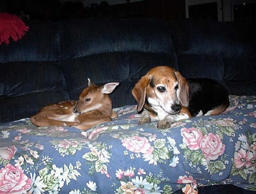
<path fill-rule="evenodd" d="M 185 77 L 209 77 L 229 94 L 256 94 L 255 32 L 250 24 L 184 20 L 170 24 Z"/>

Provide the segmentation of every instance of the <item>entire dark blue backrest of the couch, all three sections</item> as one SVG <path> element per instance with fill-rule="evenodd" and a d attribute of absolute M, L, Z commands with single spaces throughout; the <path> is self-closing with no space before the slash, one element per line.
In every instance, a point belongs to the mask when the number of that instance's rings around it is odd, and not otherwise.
<path fill-rule="evenodd" d="M 21 40 L 0 46 L 0 121 L 30 117 L 47 104 L 78 100 L 87 86 L 119 81 L 113 107 L 157 65 L 209 77 L 229 94 L 256 94 L 255 31 L 246 23 L 153 19 L 29 21 Z"/>

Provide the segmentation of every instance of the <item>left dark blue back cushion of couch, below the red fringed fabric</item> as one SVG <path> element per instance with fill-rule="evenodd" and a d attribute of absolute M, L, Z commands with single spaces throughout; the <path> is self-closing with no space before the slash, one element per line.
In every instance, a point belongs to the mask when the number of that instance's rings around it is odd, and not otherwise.
<path fill-rule="evenodd" d="M 0 122 L 30 117 L 45 105 L 68 100 L 58 25 L 29 21 L 21 40 L 0 46 Z"/>

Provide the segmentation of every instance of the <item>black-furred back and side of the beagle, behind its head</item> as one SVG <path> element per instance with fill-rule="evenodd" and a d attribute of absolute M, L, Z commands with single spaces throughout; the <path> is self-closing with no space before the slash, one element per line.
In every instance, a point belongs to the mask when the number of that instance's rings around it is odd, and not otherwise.
<path fill-rule="evenodd" d="M 189 112 L 195 117 L 218 106 L 229 106 L 227 90 L 212 79 L 187 79 L 189 85 Z"/>

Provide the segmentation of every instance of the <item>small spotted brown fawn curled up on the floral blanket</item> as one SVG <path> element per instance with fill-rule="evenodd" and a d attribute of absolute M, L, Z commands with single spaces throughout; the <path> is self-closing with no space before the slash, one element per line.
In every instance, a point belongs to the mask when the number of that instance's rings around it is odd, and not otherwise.
<path fill-rule="evenodd" d="M 111 121 L 117 114 L 112 111 L 112 101 L 108 94 L 117 85 L 119 82 L 96 86 L 88 79 L 88 87 L 82 91 L 78 101 L 62 101 L 44 106 L 30 120 L 36 126 L 74 126 L 83 131 Z"/>

